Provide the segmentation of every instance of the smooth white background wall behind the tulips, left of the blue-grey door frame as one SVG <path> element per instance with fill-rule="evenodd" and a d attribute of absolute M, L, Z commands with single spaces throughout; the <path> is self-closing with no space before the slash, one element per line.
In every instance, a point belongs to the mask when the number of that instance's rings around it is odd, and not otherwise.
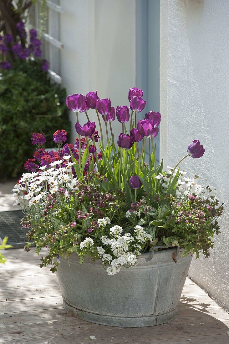
<path fill-rule="evenodd" d="M 112 106 L 129 105 L 129 87 L 136 86 L 135 1 L 60 0 L 61 77 L 67 94 L 98 91 Z M 95 110 L 89 110 L 96 121 Z M 72 141 L 75 114 L 71 114 Z M 81 124 L 86 122 L 82 114 Z M 96 121 L 97 124 L 97 121 Z M 115 132 L 121 132 L 115 121 Z"/>

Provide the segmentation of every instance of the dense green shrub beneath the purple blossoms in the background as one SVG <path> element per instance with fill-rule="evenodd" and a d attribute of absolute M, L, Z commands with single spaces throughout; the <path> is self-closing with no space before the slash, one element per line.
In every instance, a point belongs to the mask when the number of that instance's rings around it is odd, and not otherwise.
<path fill-rule="evenodd" d="M 66 93 L 51 84 L 41 61 L 18 61 L 2 70 L 0 78 L 0 180 L 25 172 L 25 160 L 33 157 L 33 132 L 44 133 L 46 147 L 53 147 L 57 129 L 70 130 Z"/>

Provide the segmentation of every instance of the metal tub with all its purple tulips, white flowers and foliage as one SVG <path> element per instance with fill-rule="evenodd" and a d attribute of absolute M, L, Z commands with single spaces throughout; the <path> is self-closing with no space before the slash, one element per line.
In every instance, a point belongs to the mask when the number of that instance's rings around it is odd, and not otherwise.
<path fill-rule="evenodd" d="M 192 141 L 174 168 L 165 169 L 163 160 L 157 165 L 160 113 L 137 121 L 146 104 L 143 91 L 130 89 L 128 99 L 129 107 L 115 110 L 97 92 L 67 96 L 76 112 L 75 145 L 64 144 L 66 132 L 58 130 L 53 135 L 58 150 L 46 152 L 44 135 L 34 133 L 37 162 L 25 164 L 30 173 L 12 191 L 25 209 L 28 240 L 38 254 L 48 248 L 40 267 L 51 265 L 56 272 L 65 310 L 99 324 L 140 327 L 178 315 L 192 255 L 209 256 L 223 206 L 217 190 L 179 169 L 183 159 L 204 154 L 200 142 Z M 101 140 L 89 109 L 96 111 Z M 79 112 L 87 117 L 84 126 Z M 117 145 L 115 117 L 123 126 Z"/>

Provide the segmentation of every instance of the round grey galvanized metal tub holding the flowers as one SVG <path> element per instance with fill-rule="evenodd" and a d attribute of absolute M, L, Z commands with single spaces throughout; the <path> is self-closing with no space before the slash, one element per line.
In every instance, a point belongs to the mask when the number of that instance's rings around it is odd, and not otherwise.
<path fill-rule="evenodd" d="M 176 254 L 177 264 L 172 256 Z M 144 327 L 169 322 L 178 315 L 178 305 L 191 263 L 176 248 L 144 253 L 138 265 L 108 276 L 101 261 L 75 253 L 60 258 L 56 276 L 64 309 L 77 318 L 110 326 Z"/>

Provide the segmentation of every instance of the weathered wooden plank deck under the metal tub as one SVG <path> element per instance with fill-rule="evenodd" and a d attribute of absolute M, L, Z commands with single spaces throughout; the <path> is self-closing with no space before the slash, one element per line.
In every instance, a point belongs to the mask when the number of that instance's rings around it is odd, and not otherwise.
<path fill-rule="evenodd" d="M 67 314 L 55 275 L 38 267 L 34 249 L 4 251 L 0 267 L 0 344 L 226 344 L 229 315 L 189 278 L 179 316 L 145 328 L 92 324 Z M 90 340 L 90 336 L 96 337 Z"/>

